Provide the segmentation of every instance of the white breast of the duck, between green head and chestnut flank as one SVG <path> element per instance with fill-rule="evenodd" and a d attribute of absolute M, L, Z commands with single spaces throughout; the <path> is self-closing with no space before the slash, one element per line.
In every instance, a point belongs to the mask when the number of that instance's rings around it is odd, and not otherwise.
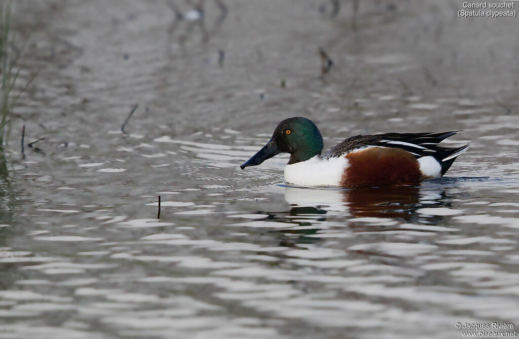
<path fill-rule="evenodd" d="M 321 159 L 315 156 L 309 160 L 286 165 L 285 182 L 294 186 L 339 186 L 348 159 L 337 157 Z"/>

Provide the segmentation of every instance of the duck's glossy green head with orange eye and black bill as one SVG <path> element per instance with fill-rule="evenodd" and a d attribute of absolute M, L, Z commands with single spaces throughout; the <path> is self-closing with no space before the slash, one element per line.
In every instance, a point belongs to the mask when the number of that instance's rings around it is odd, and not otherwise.
<path fill-rule="evenodd" d="M 270 141 L 240 168 L 260 165 L 280 153 L 290 153 L 288 165 L 295 164 L 320 155 L 322 150 L 323 137 L 316 124 L 301 116 L 288 118 L 279 123 Z"/>

